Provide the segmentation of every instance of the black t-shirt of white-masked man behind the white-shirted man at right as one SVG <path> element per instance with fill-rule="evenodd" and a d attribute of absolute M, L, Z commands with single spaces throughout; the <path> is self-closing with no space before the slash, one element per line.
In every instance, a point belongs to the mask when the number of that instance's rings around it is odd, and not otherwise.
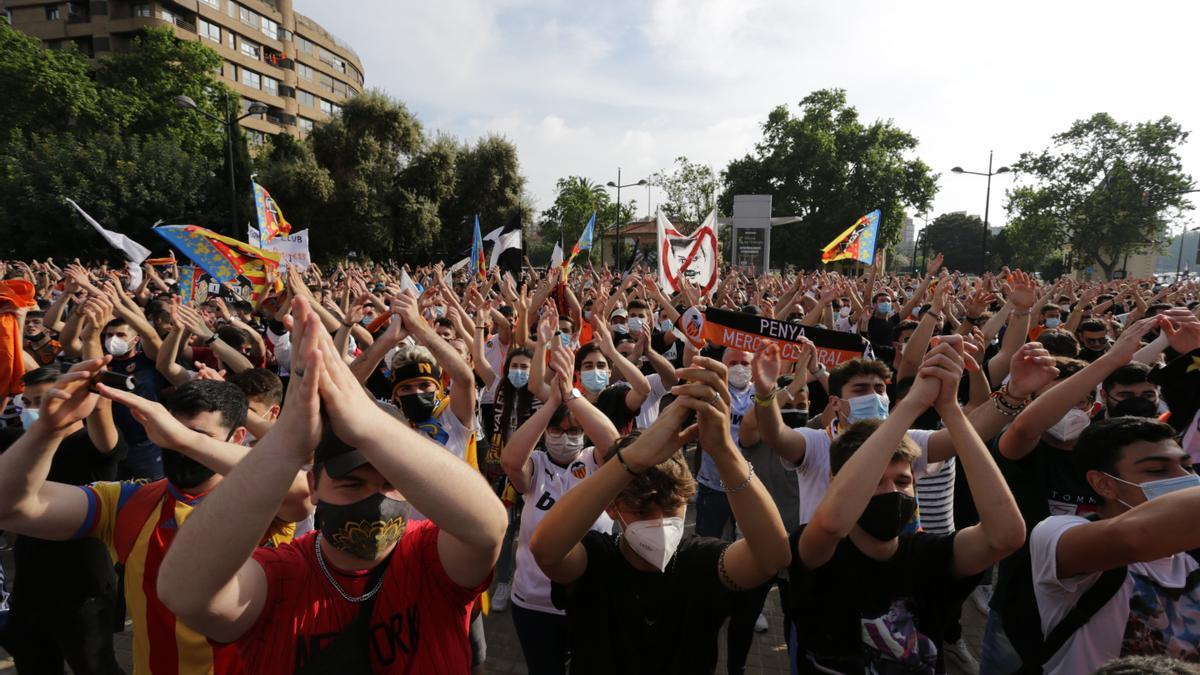
<path fill-rule="evenodd" d="M 1030 454 L 1013 461 L 1000 454 L 998 448 L 997 440 L 992 456 L 1025 520 L 1025 545 L 1000 561 L 991 607 L 1003 616 L 1009 640 L 1021 651 L 1033 640 L 1040 639 L 1038 610 L 1033 602 L 1033 573 L 1030 567 L 1030 533 L 1033 532 L 1033 526 L 1051 515 L 1094 513 L 1100 507 L 1100 498 L 1075 468 L 1070 450 L 1038 441 Z"/>

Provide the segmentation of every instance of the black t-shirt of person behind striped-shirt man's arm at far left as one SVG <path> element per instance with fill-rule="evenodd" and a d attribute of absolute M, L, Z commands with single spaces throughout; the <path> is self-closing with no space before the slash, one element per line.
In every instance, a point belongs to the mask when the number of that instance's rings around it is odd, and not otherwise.
<path fill-rule="evenodd" d="M 5 434 L 0 440 L 7 449 L 20 434 Z M 126 444 L 118 432 L 116 446 L 101 453 L 88 437 L 88 430 L 71 434 L 59 444 L 50 464 L 48 480 L 86 485 L 97 480 L 115 480 L 116 464 L 125 456 Z M 17 573 L 13 578 L 14 603 L 38 602 L 46 596 L 85 598 L 115 587 L 113 560 L 98 539 L 49 542 L 36 537 L 17 537 L 13 545 Z"/>

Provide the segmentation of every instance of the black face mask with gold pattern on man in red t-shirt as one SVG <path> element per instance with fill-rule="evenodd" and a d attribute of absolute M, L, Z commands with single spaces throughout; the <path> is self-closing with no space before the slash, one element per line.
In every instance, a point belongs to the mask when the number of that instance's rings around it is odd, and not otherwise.
<path fill-rule="evenodd" d="M 317 504 L 320 536 L 335 549 L 359 560 L 379 560 L 404 534 L 408 502 L 376 492 L 350 504 Z"/>

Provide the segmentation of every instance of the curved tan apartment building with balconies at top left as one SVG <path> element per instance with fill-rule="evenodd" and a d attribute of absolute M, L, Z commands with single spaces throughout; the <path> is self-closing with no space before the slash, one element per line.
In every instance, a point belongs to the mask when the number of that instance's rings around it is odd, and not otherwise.
<path fill-rule="evenodd" d="M 268 107 L 241 120 L 252 143 L 265 135 L 304 136 L 362 91 L 362 61 L 344 41 L 292 10 L 292 0 L 0 0 L 13 28 L 56 49 L 89 56 L 120 52 L 139 31 L 170 28 L 224 60 L 221 77 L 241 97 Z"/>

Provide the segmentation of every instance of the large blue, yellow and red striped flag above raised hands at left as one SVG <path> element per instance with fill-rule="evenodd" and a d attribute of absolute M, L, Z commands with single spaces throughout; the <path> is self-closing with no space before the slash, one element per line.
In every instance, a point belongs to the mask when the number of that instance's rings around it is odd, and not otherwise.
<path fill-rule="evenodd" d="M 216 282 L 226 283 L 238 276 L 245 277 L 254 299 L 268 291 L 268 270 L 277 273 L 280 268 L 280 255 L 275 251 L 264 251 L 203 227 L 162 225 L 154 231 L 203 268 Z M 282 288 L 283 282 L 276 274 L 274 289 Z"/>

